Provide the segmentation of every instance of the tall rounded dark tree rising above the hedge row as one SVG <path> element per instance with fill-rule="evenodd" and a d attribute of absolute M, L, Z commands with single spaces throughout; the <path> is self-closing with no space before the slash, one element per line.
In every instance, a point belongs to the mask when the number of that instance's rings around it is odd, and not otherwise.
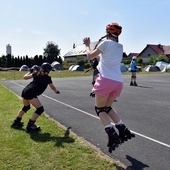
<path fill-rule="evenodd" d="M 58 61 L 60 49 L 57 44 L 48 41 L 43 54 L 44 58 L 47 59 L 47 62 L 52 63 L 53 61 Z"/>

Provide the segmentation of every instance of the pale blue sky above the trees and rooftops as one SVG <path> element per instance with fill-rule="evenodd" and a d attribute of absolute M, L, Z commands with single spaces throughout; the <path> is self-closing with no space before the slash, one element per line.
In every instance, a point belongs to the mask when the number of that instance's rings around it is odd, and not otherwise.
<path fill-rule="evenodd" d="M 141 52 L 147 44 L 170 45 L 170 0 L 0 0 L 0 56 L 11 44 L 15 57 L 42 55 L 48 41 L 61 49 L 91 37 L 118 22 L 124 52 Z"/>

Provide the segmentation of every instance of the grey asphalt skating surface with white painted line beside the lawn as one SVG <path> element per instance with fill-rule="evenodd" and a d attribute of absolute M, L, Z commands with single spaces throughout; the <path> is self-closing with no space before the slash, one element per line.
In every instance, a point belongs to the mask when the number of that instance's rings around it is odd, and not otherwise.
<path fill-rule="evenodd" d="M 119 160 L 129 170 L 170 170 L 170 74 L 139 73 L 138 87 L 129 86 L 130 77 L 124 76 L 124 89 L 113 107 L 136 138 L 125 142 L 112 154 L 108 152 L 107 135 L 94 111 L 94 98 L 89 96 L 91 79 L 53 79 L 61 94 L 47 88 L 40 96 L 46 114 L 71 127 L 78 136 Z M 1 81 L 18 95 L 28 82 Z"/>

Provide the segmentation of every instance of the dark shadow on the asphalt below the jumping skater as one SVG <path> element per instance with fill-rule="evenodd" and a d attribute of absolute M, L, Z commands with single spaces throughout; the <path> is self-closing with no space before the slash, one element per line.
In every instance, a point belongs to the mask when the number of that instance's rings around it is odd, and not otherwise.
<path fill-rule="evenodd" d="M 132 163 L 132 165 L 128 166 L 126 170 L 143 170 L 144 168 L 149 167 L 148 165 L 132 158 L 129 155 L 126 155 L 126 159 Z"/>

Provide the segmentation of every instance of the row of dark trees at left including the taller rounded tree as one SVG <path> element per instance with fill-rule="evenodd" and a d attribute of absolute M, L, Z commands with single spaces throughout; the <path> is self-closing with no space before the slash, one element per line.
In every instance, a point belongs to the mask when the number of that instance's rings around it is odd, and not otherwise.
<path fill-rule="evenodd" d="M 33 65 L 40 66 L 44 62 L 48 62 L 51 64 L 54 61 L 57 61 L 62 65 L 63 60 L 60 57 L 60 49 L 57 44 L 48 41 L 46 47 L 43 50 L 43 55 L 35 55 L 31 58 L 29 58 L 28 55 L 18 57 L 14 57 L 10 54 L 2 55 L 0 57 L 0 67 L 21 67 L 22 65 L 32 67 Z"/>

